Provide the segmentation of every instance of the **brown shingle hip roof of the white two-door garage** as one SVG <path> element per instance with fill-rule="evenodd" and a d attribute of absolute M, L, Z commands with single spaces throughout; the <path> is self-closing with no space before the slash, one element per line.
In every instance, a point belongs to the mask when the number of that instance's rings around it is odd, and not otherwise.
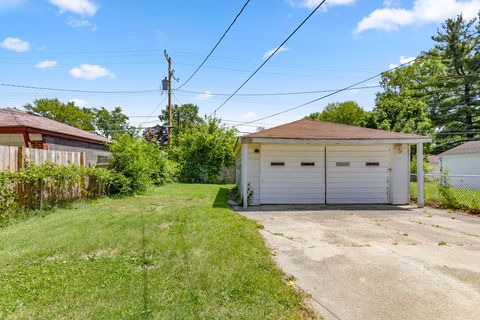
<path fill-rule="evenodd" d="M 250 133 L 241 138 L 320 140 L 430 139 L 430 137 L 423 137 L 415 134 L 362 128 L 307 118 L 263 131 Z"/>

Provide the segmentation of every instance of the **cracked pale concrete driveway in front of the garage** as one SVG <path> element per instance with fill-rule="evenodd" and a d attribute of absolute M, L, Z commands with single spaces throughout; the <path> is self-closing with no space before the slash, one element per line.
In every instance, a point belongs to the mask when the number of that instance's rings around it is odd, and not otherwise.
<path fill-rule="evenodd" d="M 325 319 L 480 319 L 480 217 L 393 206 L 271 206 L 274 259 Z"/>

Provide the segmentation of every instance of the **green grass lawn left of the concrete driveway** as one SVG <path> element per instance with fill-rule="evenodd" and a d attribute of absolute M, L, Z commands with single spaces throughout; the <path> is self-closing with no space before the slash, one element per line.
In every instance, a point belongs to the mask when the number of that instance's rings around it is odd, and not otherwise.
<path fill-rule="evenodd" d="M 0 229 L 0 318 L 305 317 L 227 193 L 174 184 Z"/>

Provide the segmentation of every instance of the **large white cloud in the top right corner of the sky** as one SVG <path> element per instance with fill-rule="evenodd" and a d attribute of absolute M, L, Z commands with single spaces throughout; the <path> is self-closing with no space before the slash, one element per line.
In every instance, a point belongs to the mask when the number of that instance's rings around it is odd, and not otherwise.
<path fill-rule="evenodd" d="M 377 9 L 363 18 L 355 32 L 370 29 L 395 31 L 408 25 L 442 22 L 460 13 L 470 19 L 480 10 L 480 0 L 415 0 L 412 9 L 392 8 L 392 3 L 395 4 L 387 1 L 385 8 Z"/>

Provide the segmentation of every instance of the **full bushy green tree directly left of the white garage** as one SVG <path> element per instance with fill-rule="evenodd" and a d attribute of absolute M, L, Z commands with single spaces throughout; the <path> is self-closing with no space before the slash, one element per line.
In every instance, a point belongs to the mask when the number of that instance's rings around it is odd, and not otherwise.
<path fill-rule="evenodd" d="M 178 134 L 173 158 L 182 182 L 217 182 L 222 168 L 235 163 L 236 131 L 207 117 L 206 121 Z"/>

